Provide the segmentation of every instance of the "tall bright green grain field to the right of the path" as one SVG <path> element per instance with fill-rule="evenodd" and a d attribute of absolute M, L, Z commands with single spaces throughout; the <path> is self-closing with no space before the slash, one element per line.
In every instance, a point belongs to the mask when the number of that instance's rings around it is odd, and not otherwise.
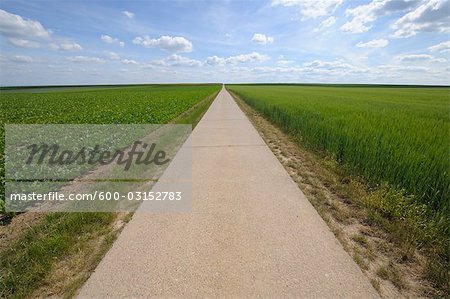
<path fill-rule="evenodd" d="M 449 88 L 227 85 L 272 122 L 372 183 L 445 213 Z"/>

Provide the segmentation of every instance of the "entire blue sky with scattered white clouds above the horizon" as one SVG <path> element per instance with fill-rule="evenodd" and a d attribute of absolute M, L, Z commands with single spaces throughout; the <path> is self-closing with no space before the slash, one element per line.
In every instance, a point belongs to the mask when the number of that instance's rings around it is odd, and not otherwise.
<path fill-rule="evenodd" d="M 450 84 L 450 0 L 0 2 L 0 84 Z"/>

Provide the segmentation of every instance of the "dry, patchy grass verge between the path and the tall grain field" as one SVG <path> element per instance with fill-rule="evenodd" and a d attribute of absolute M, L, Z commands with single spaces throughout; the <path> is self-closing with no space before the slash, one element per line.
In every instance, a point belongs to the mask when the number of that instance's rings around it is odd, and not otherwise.
<path fill-rule="evenodd" d="M 382 297 L 449 296 L 448 222 L 442 215 L 402 190 L 369 185 L 231 94 Z"/>

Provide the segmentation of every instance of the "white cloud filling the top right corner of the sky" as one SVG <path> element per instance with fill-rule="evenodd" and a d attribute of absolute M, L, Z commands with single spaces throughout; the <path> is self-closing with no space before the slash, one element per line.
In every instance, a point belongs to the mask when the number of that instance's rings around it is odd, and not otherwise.
<path fill-rule="evenodd" d="M 430 0 L 398 19 L 393 37 L 405 38 L 418 32 L 450 33 L 450 1 Z"/>

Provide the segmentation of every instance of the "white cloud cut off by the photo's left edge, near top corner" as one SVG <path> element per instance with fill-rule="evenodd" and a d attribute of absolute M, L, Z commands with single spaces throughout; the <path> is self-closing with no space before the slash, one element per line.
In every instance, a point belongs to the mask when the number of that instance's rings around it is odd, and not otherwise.
<path fill-rule="evenodd" d="M 48 39 L 51 31 L 38 21 L 24 19 L 19 15 L 0 9 L 0 33 L 13 38 Z"/>

